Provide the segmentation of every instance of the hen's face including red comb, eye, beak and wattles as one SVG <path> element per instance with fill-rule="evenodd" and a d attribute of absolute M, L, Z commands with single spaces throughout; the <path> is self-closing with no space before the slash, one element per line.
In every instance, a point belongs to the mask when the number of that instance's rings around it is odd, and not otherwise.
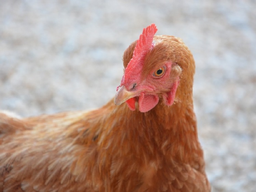
<path fill-rule="evenodd" d="M 117 88 L 116 105 L 126 102 L 135 110 L 135 102 L 138 102 L 140 112 L 147 112 L 158 104 L 159 98 L 163 98 L 166 105 L 173 104 L 179 84 L 177 69 L 180 68 L 163 56 L 166 55 L 164 44 L 153 42 L 156 31 L 152 24 L 140 35 Z"/>

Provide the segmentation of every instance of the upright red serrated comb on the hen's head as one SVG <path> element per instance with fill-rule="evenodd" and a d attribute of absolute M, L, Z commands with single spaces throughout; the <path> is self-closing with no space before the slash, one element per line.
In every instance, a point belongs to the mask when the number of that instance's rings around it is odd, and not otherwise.
<path fill-rule="evenodd" d="M 135 77 L 137 76 L 137 74 L 135 74 L 136 72 L 137 73 L 141 72 L 144 58 L 148 53 L 148 51 L 151 50 L 153 47 L 152 42 L 153 42 L 154 34 L 156 32 L 157 32 L 157 27 L 155 24 L 151 24 L 150 26 L 143 29 L 143 32 L 139 36 L 139 39 L 137 40 L 137 44 L 134 48 L 133 57 L 125 69 L 124 76 L 129 76 L 129 80 L 125 78 L 123 79 L 124 81 L 127 80 L 131 82 L 133 79 L 132 76 Z M 133 70 L 134 68 L 136 68 L 136 70 Z"/>

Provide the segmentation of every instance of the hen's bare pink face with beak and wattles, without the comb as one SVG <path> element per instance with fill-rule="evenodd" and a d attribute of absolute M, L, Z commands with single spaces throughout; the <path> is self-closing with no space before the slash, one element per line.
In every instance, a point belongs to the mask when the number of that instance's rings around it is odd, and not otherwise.
<path fill-rule="evenodd" d="M 172 62 L 166 62 L 162 67 L 149 73 L 144 80 L 137 78 L 132 83 L 121 83 L 117 88 L 115 104 L 126 102 L 131 110 L 135 110 L 137 101 L 140 112 L 147 112 L 156 106 L 159 97 L 162 97 L 166 105 L 172 105 L 179 79 L 171 77 L 171 70 Z"/>

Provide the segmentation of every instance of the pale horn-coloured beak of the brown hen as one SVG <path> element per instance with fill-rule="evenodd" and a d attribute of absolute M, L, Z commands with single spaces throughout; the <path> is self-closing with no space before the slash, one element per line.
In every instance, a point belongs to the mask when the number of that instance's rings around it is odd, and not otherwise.
<path fill-rule="evenodd" d="M 135 92 L 127 91 L 125 86 L 122 85 L 117 90 L 116 96 L 114 98 L 114 103 L 116 105 L 121 105 L 123 102 L 127 101 L 128 99 L 138 96 L 139 92 L 140 91 L 135 91 Z"/>

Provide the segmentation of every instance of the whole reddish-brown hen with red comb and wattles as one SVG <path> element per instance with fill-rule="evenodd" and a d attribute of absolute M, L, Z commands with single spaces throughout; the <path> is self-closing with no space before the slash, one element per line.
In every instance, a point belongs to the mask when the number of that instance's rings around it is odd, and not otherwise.
<path fill-rule="evenodd" d="M 124 52 L 116 96 L 89 112 L 0 113 L 0 191 L 211 190 L 193 111 L 194 59 L 154 24 Z"/>

